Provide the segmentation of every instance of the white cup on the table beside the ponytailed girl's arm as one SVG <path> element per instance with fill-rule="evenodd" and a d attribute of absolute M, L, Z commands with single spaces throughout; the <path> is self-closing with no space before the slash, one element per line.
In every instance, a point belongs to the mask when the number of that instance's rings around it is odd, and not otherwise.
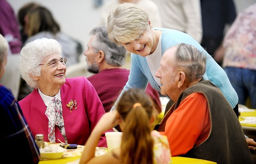
<path fill-rule="evenodd" d="M 122 140 L 122 132 L 106 132 L 107 149 L 111 151 L 120 147 Z"/>

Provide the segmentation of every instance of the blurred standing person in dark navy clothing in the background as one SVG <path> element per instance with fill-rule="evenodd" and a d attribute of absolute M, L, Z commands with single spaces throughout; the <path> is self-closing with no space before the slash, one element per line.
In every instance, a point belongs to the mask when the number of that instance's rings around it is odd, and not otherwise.
<path fill-rule="evenodd" d="M 226 29 L 236 17 L 233 0 L 200 0 L 203 37 L 201 46 L 222 66 L 224 48 L 222 41 Z"/>

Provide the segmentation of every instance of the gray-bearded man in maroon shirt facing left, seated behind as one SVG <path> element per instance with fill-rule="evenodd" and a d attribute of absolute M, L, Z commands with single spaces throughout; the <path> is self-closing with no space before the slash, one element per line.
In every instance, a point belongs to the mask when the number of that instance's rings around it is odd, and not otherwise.
<path fill-rule="evenodd" d="M 122 68 L 125 63 L 126 50 L 107 38 L 106 26 L 95 27 L 90 34 L 92 37 L 84 55 L 87 70 L 95 74 L 88 77 L 88 80 L 94 86 L 105 112 L 108 112 L 128 80 L 130 71 Z M 150 84 L 145 92 L 152 98 L 156 112 L 159 114 L 162 111 L 159 93 Z"/>

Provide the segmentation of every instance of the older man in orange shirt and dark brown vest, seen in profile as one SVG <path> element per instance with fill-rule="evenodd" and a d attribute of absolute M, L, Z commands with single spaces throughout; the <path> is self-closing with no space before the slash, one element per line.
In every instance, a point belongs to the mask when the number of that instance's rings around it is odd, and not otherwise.
<path fill-rule="evenodd" d="M 203 79 L 206 58 L 186 43 L 165 51 L 155 76 L 160 78 L 161 94 L 174 103 L 155 129 L 167 136 L 172 156 L 252 163 L 233 108 L 217 86 Z"/>

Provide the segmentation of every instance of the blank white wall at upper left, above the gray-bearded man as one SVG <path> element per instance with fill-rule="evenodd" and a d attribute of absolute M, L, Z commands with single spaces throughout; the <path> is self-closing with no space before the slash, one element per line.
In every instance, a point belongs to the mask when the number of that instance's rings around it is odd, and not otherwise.
<path fill-rule="evenodd" d="M 31 0 L 7 0 L 15 14 Z M 55 20 L 59 23 L 61 31 L 69 34 L 86 49 L 90 39 L 89 32 L 98 25 L 101 7 L 94 7 L 94 0 L 33 0 L 48 8 Z M 106 2 L 107 0 L 103 0 Z M 85 58 L 81 56 L 82 60 Z"/>

